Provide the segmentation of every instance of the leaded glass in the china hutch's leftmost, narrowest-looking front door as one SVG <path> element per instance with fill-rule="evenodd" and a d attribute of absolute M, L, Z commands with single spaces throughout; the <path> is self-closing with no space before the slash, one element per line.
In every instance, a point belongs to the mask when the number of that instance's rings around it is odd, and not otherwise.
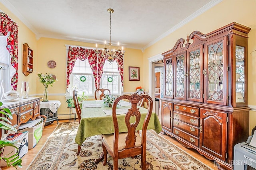
<path fill-rule="evenodd" d="M 165 95 L 173 98 L 173 57 L 165 60 Z"/>

